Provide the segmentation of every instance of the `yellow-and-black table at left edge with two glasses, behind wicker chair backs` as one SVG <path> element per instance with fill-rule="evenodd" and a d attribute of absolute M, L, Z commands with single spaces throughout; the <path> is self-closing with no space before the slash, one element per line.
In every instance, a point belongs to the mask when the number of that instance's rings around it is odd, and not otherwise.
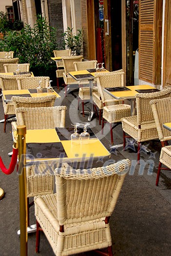
<path fill-rule="evenodd" d="M 47 93 L 47 89 L 43 88 L 42 93 L 37 93 L 37 89 L 26 89 L 26 90 L 4 90 L 2 91 L 2 97 L 4 102 L 12 102 L 13 96 L 20 97 L 44 97 L 48 95 L 56 95 L 57 98 L 60 98 L 60 95 L 57 94 L 56 91 L 53 90 L 53 93 Z"/>

